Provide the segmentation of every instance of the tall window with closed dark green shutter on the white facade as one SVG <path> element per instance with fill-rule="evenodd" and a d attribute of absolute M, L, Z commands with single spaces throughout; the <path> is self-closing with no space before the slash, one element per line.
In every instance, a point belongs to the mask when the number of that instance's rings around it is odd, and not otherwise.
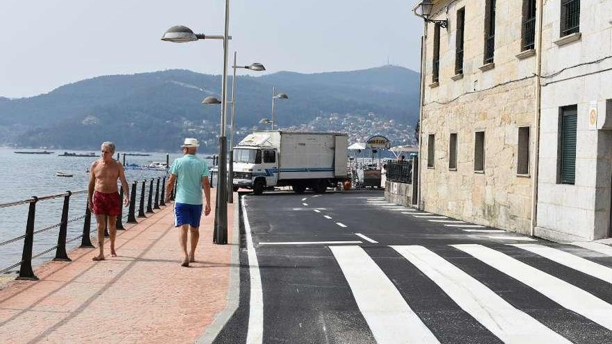
<path fill-rule="evenodd" d="M 560 162 L 559 182 L 573 184 L 576 179 L 576 131 L 578 124 L 578 107 L 576 105 L 561 108 Z"/>

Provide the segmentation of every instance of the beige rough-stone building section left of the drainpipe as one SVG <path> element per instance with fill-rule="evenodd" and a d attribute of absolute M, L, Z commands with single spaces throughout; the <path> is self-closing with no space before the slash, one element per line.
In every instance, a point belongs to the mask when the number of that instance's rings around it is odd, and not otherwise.
<path fill-rule="evenodd" d="M 433 1 L 430 19 L 448 25 L 425 24 L 419 204 L 529 234 L 537 60 L 523 7 Z"/>

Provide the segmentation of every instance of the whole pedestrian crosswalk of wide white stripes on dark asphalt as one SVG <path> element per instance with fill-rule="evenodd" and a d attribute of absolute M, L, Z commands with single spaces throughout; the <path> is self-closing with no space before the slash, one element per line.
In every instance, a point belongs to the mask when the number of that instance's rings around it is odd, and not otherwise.
<path fill-rule="evenodd" d="M 599 251 L 608 248 L 595 247 Z M 411 281 L 410 290 L 427 293 L 430 288 L 419 286 L 419 278 L 433 282 L 459 309 L 479 322 L 490 334 L 497 336 L 501 342 L 573 343 L 576 335 L 567 338 L 570 333 L 560 329 L 579 325 L 572 325 L 568 323 L 570 320 L 560 318 L 558 322 L 562 325 L 551 326 L 550 319 L 534 312 L 533 307 L 521 309 L 516 302 L 508 300 L 507 293 L 513 285 L 507 285 L 500 292 L 499 288 L 491 287 L 491 274 L 498 274 L 494 278 L 514 281 L 515 288 L 531 288 L 533 300 L 548 300 L 556 304 L 558 309 L 574 312 L 576 316 L 583 317 L 584 322 L 592 322 L 592 326 L 601 333 L 591 334 L 590 338 L 612 338 L 612 304 L 609 303 L 612 300 L 612 268 L 584 258 L 590 256 L 587 249 L 572 248 L 572 245 L 551 247 L 535 243 L 494 247 L 458 244 L 433 248 L 424 245 L 391 245 L 386 249 L 396 252 L 398 258 L 405 259 L 394 265 L 398 269 L 405 267 L 403 275 L 414 268 L 422 274 L 406 277 Z M 387 277 L 385 269 L 371 256 L 376 255 L 376 252 L 357 245 L 334 246 L 329 249 L 378 343 L 440 343 L 441 334 L 435 325 L 432 326 L 433 320 L 422 318 L 418 304 L 417 309 L 414 309 L 407 301 L 410 298 L 405 296 L 405 288 L 399 286 L 400 282 L 396 279 Z M 389 256 L 389 253 L 383 256 Z M 463 260 L 459 266 L 456 256 L 461 256 Z M 549 271 L 539 270 L 524 262 L 525 256 L 546 261 L 547 264 L 558 264 L 566 268 L 568 273 L 572 271 L 574 279 L 565 281 L 560 275 L 553 276 Z M 483 271 L 466 269 L 465 259 Z M 609 265 L 612 265 L 612 259 Z M 579 280 L 575 274 L 595 277 L 606 286 L 597 289 L 604 290 L 602 295 L 574 285 Z M 473 343 L 479 342 L 476 340 Z M 602 340 L 597 343 L 609 342 Z"/>

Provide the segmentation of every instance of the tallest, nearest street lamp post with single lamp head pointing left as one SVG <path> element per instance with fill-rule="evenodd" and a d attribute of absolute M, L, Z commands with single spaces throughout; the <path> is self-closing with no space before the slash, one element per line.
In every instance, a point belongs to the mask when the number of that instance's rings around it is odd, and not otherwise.
<path fill-rule="evenodd" d="M 175 43 L 193 42 L 204 39 L 223 40 L 223 79 L 221 81 L 221 129 L 219 136 L 219 176 L 217 182 L 217 204 L 215 208 L 215 230 L 213 241 L 227 244 L 227 138 L 225 122 L 227 118 L 227 45 L 230 40 L 230 0 L 225 0 L 225 31 L 223 36 L 195 34 L 186 26 L 172 26 L 161 40 Z"/>

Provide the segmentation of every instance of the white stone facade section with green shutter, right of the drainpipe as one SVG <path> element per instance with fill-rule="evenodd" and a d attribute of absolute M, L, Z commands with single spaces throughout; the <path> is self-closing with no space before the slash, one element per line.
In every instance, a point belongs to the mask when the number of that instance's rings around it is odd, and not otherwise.
<path fill-rule="evenodd" d="M 610 235 L 612 0 L 546 1 L 536 236 Z"/>

